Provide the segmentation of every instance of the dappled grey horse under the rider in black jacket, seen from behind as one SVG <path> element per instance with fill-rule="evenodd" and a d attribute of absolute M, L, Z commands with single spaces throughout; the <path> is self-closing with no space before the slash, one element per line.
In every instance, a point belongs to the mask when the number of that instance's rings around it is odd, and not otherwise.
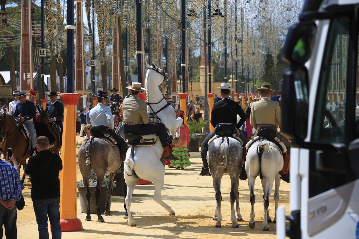
<path fill-rule="evenodd" d="M 207 161 L 209 169 L 213 178 L 213 187 L 216 191 L 216 207 L 214 209 L 213 220 L 216 221 L 216 228 L 222 226 L 221 214 L 221 180 L 224 173 L 228 173 L 231 181 L 230 190 L 230 206 L 232 220 L 232 227 L 238 228 L 237 221 L 242 221 L 242 215 L 239 209 L 239 192 L 238 192 L 238 178 L 242 172 L 242 144 L 238 140 L 230 137 L 220 137 L 214 139 L 209 143 Z M 237 215 L 234 213 L 234 201 L 236 201 Z"/>

